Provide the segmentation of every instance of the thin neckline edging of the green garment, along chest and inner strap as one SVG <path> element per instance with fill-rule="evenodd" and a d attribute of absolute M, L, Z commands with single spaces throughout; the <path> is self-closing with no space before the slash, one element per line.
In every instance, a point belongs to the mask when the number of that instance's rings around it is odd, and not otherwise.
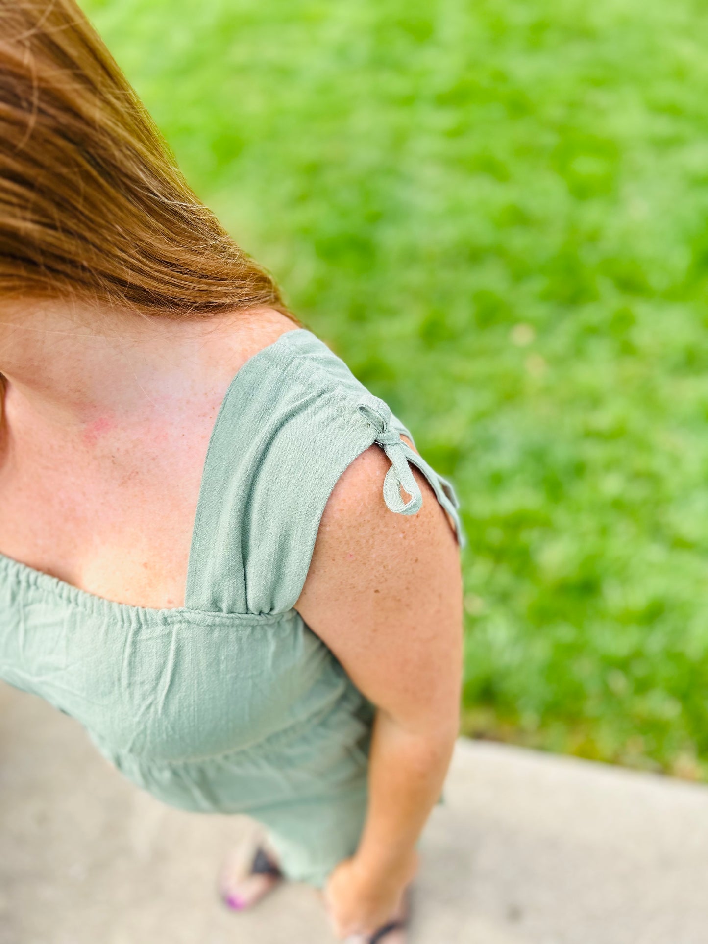
<path fill-rule="evenodd" d="M 212 444 L 214 443 L 217 430 L 219 428 L 219 421 L 221 420 L 225 412 L 225 403 L 228 398 L 231 396 L 233 389 L 235 388 L 238 379 L 241 375 L 241 372 L 244 370 L 245 366 L 250 366 L 255 362 L 265 360 L 265 356 L 273 351 L 274 348 L 282 346 L 285 344 L 285 339 L 290 337 L 291 334 L 301 336 L 303 333 L 312 334 L 312 331 L 309 331 L 306 328 L 295 328 L 290 331 L 284 331 L 274 342 L 264 347 L 261 347 L 261 350 L 256 351 L 255 354 L 251 355 L 247 361 L 245 361 L 241 367 L 239 367 L 236 374 L 233 376 L 231 381 L 228 384 L 227 391 L 222 398 L 221 404 L 219 406 L 219 412 L 216 414 L 216 419 L 214 425 L 211 428 L 211 435 L 209 441 L 209 447 L 207 448 L 207 455 L 202 465 L 202 474 L 199 481 L 199 494 L 196 499 L 196 511 L 194 514 L 194 522 L 192 525 L 192 536 L 190 540 L 190 555 L 187 563 L 187 581 L 185 586 L 185 604 L 187 598 L 187 587 L 189 587 L 191 581 L 190 576 L 192 572 L 192 565 L 194 560 L 194 544 L 195 544 L 195 534 L 196 527 L 195 522 L 199 516 L 201 506 L 204 501 L 204 496 L 207 493 L 209 488 L 208 477 L 209 477 L 209 468 L 210 468 L 210 452 Z M 312 337 L 315 335 L 312 334 Z M 202 611 L 194 610 L 188 606 L 175 606 L 175 607 L 152 607 L 152 606 L 136 606 L 134 603 L 121 603 L 115 599 L 109 599 L 107 597 L 101 597 L 98 594 L 91 593 L 89 590 L 82 590 L 80 587 L 75 586 L 73 583 L 67 581 L 62 581 L 59 577 L 53 577 L 52 574 L 47 574 L 43 570 L 38 570 L 36 567 L 31 567 L 28 564 L 23 564 L 22 561 L 17 561 L 13 557 L 8 557 L 7 554 L 3 554 L 0 551 L 0 566 L 7 570 L 8 572 L 13 572 L 17 577 L 22 578 L 26 585 L 34 586 L 42 590 L 42 592 L 51 594 L 62 599 L 66 599 L 69 602 L 74 603 L 75 605 L 81 606 L 83 609 L 110 609 L 116 612 L 124 612 L 126 614 L 132 614 L 136 616 L 147 616 L 153 615 L 155 617 L 160 617 L 164 619 L 170 615 L 175 615 L 176 617 L 181 616 L 185 618 L 189 615 L 209 615 L 209 616 L 220 616 L 227 615 L 231 618 L 233 617 L 247 617 L 249 619 L 261 619 L 264 617 L 271 617 L 270 614 L 238 614 L 238 613 L 229 613 L 222 614 L 219 612 L 211 611 Z M 278 614 L 281 616 L 282 614 Z"/>

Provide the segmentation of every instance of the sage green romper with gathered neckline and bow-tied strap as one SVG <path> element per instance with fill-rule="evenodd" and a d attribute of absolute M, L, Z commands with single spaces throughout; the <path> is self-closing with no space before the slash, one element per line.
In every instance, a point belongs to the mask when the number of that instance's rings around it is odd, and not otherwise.
<path fill-rule="evenodd" d="M 329 494 L 378 443 L 388 508 L 420 507 L 412 463 L 463 540 L 452 488 L 401 432 L 310 331 L 281 335 L 211 434 L 184 607 L 111 602 L 0 555 L 0 678 L 75 717 L 161 801 L 259 819 L 286 873 L 322 885 L 362 829 L 372 719 L 293 609 Z"/>

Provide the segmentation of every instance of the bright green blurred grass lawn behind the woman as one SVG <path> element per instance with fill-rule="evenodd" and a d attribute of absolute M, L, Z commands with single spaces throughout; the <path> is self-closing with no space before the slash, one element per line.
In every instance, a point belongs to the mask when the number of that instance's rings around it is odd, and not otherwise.
<path fill-rule="evenodd" d="M 90 0 L 196 191 L 454 480 L 466 730 L 708 774 L 708 8 Z"/>

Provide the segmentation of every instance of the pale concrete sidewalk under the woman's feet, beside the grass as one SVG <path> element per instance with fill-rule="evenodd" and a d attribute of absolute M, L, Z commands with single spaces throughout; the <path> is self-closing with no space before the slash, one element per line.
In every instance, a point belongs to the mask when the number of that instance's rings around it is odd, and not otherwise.
<path fill-rule="evenodd" d="M 76 724 L 0 686 L 0 944 L 332 944 L 316 895 L 214 894 L 237 818 L 166 809 Z M 461 742 L 412 944 L 705 944 L 708 789 Z"/>

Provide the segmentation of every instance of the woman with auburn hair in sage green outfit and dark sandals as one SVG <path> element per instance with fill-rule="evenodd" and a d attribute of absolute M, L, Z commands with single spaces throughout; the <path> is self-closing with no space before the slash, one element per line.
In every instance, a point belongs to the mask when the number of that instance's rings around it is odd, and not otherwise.
<path fill-rule="evenodd" d="M 73 0 L 0 0 L 0 676 L 259 819 L 233 907 L 404 939 L 458 726 L 452 489 L 179 175 Z"/>

